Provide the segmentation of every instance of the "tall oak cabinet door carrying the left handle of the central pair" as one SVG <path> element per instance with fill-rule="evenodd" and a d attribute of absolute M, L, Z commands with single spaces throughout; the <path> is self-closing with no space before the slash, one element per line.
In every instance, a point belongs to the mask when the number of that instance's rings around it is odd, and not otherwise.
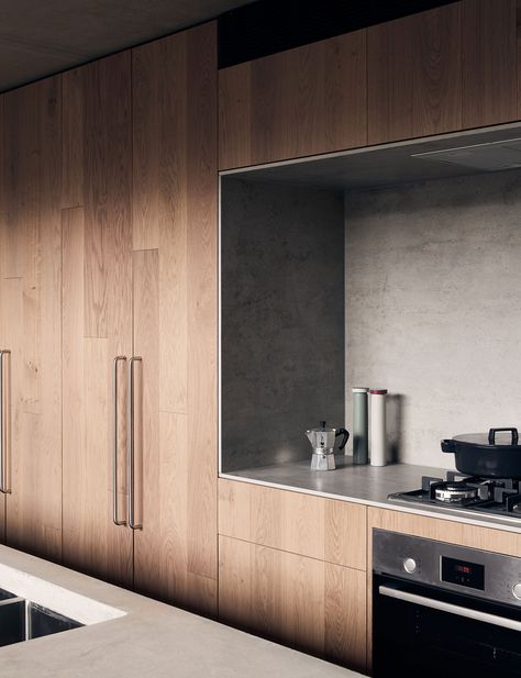
<path fill-rule="evenodd" d="M 130 52 L 70 70 L 64 89 L 64 563 L 132 585 L 126 391 L 132 355 Z M 114 358 L 117 364 L 114 390 Z M 118 411 L 118 422 L 115 413 Z"/>

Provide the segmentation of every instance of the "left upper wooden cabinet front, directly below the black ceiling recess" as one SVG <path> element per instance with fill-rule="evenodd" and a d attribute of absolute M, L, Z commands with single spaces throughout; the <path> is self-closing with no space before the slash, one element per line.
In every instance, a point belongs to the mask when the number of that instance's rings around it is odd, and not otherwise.
<path fill-rule="evenodd" d="M 366 31 L 219 73 L 220 169 L 367 143 Z"/>

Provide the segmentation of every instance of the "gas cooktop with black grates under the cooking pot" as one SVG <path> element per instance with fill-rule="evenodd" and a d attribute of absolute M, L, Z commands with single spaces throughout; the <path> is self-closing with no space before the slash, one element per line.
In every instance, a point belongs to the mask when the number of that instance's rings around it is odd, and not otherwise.
<path fill-rule="evenodd" d="M 512 478 L 479 478 L 447 471 L 445 479 L 423 476 L 421 489 L 393 492 L 388 499 L 488 513 L 521 522 L 521 481 Z"/>

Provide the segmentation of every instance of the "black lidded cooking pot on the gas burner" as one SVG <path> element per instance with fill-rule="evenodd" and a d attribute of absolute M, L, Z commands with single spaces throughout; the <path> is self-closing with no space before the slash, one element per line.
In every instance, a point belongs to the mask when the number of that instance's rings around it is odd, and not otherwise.
<path fill-rule="evenodd" d="M 510 433 L 509 441 L 496 441 L 496 434 Z M 490 429 L 486 433 L 466 433 L 442 441 L 442 452 L 454 453 L 456 468 L 467 476 L 521 479 L 521 445 L 517 429 Z"/>

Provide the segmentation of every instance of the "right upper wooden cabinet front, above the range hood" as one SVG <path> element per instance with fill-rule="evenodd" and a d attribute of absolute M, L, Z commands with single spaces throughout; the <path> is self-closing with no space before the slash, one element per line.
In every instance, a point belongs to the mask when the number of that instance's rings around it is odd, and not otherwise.
<path fill-rule="evenodd" d="M 368 29 L 368 143 L 518 113 L 516 0 L 462 0 Z"/>

